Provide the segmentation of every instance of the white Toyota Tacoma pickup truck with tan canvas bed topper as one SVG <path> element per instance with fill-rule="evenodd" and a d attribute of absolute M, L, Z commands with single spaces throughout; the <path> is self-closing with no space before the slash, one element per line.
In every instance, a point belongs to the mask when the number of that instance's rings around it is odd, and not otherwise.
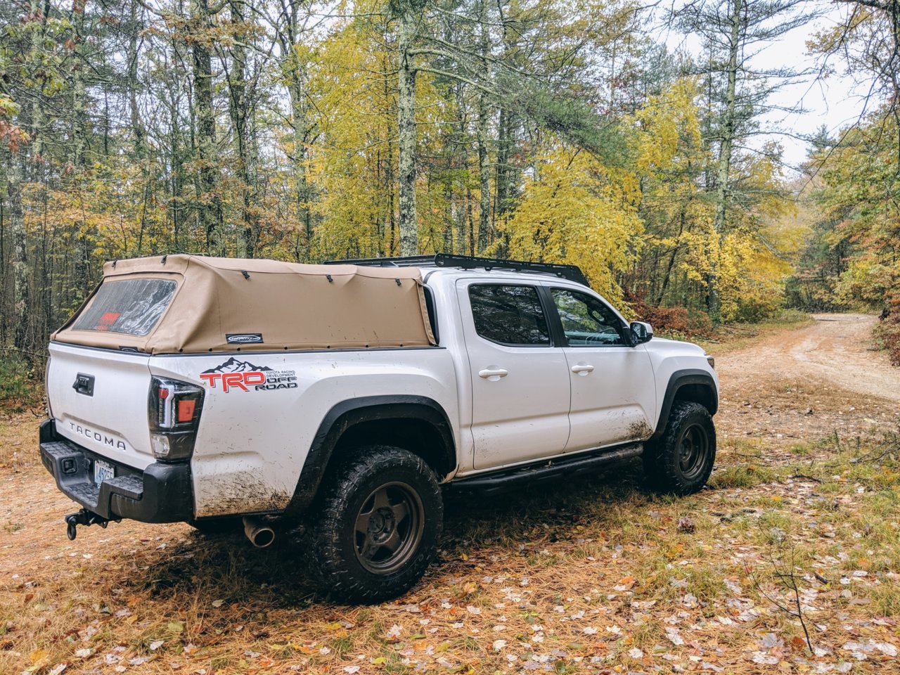
<path fill-rule="evenodd" d="M 40 456 L 82 506 L 258 546 L 305 528 L 320 581 L 419 580 L 445 489 L 492 493 L 639 455 L 688 494 L 716 456 L 711 356 L 629 324 L 572 266 L 460 256 L 305 266 L 107 263 L 49 346 Z"/>

